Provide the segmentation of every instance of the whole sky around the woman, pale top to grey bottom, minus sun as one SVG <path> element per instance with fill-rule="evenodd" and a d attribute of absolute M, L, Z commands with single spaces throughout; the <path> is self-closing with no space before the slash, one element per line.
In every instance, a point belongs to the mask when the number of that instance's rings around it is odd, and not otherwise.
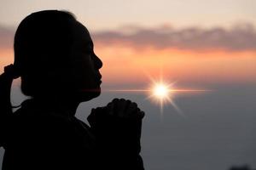
<path fill-rule="evenodd" d="M 255 0 L 0 0 L 0 73 L 13 63 L 20 21 L 44 9 L 75 14 L 103 61 L 102 95 L 77 111 L 84 122 L 92 107 L 124 97 L 146 113 L 146 169 L 228 170 L 244 163 L 255 169 Z M 177 88 L 212 92 L 175 96 L 185 118 L 172 105 L 160 116 L 144 94 L 104 92 L 147 88 L 150 77 L 160 75 Z M 19 105 L 14 101 L 23 98 L 15 85 L 12 102 Z M 0 150 L 0 166 L 2 158 Z"/>

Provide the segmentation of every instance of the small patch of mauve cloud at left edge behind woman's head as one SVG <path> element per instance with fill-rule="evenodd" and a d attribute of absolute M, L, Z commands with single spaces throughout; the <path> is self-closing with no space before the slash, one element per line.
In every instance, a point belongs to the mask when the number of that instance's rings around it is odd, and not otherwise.
<path fill-rule="evenodd" d="M 0 26 L 0 49 L 13 48 L 15 30 Z"/>

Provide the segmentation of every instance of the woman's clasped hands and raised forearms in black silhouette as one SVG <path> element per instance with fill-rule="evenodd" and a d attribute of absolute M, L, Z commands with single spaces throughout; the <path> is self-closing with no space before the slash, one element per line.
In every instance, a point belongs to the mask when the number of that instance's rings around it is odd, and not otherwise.
<path fill-rule="evenodd" d="M 135 103 L 125 99 L 114 99 L 107 107 L 91 112 L 88 121 L 96 135 L 100 165 L 110 169 L 144 169 L 139 155 L 143 116 Z"/>

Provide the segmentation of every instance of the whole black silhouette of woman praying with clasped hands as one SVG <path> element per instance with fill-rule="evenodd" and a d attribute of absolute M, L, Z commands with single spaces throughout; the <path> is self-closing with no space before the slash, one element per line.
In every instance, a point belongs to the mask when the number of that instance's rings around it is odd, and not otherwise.
<path fill-rule="evenodd" d="M 144 116 L 137 104 L 113 99 L 92 109 L 90 126 L 75 117 L 81 102 L 101 94 L 102 60 L 89 31 L 65 11 L 28 15 L 15 33 L 15 63 L 0 76 L 3 170 L 143 169 Z M 30 97 L 13 113 L 10 88 L 21 78 Z"/>

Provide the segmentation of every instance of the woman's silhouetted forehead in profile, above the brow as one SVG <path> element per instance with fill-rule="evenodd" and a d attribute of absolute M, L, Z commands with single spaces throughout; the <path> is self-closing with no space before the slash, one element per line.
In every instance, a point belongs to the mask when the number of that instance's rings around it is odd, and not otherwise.
<path fill-rule="evenodd" d="M 93 45 L 90 33 L 85 26 L 78 21 L 73 26 L 74 43 Z"/>

